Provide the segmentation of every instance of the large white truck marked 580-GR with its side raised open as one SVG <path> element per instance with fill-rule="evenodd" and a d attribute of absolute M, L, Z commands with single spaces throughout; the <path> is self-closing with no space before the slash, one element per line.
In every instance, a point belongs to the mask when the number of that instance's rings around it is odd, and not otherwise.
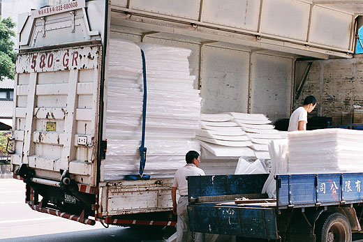
<path fill-rule="evenodd" d="M 27 204 L 89 225 L 175 225 L 172 173 L 135 181 L 104 175 L 110 42 L 189 49 L 203 113 L 276 120 L 288 118 L 304 87 L 305 59 L 353 57 L 357 15 L 334 7 L 300 0 L 77 0 L 20 15 L 11 164 L 27 183 Z M 212 165 L 230 173 L 223 162 Z"/>

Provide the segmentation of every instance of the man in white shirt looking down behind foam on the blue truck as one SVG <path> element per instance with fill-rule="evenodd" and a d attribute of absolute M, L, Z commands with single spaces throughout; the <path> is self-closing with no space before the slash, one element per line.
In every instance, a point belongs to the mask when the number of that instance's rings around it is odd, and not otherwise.
<path fill-rule="evenodd" d="M 288 123 L 288 131 L 306 130 L 308 112 L 313 111 L 315 107 L 316 98 L 314 96 L 307 96 L 302 107 L 298 107 L 292 112 Z"/>

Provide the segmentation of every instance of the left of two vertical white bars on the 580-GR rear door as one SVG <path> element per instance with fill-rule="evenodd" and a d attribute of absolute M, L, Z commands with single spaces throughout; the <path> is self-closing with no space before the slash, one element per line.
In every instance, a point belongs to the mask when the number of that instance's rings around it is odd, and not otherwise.
<path fill-rule="evenodd" d="M 22 163 L 28 164 L 28 157 L 32 155 L 34 147 L 31 146 L 31 135 L 33 135 L 33 114 L 34 114 L 34 100 L 36 97 L 36 80 L 38 73 L 31 73 L 29 77 L 28 85 L 28 98 L 27 98 L 27 113 L 25 116 L 25 136 L 22 153 L 24 154 L 22 158 Z M 21 151 L 17 151 L 21 152 Z"/>

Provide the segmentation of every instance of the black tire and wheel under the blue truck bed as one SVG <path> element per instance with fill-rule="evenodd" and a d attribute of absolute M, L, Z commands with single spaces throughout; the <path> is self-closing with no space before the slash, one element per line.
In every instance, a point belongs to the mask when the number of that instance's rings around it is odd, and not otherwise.
<path fill-rule="evenodd" d="M 323 213 L 316 222 L 317 242 L 351 242 L 352 229 L 346 216 L 341 213 Z"/>

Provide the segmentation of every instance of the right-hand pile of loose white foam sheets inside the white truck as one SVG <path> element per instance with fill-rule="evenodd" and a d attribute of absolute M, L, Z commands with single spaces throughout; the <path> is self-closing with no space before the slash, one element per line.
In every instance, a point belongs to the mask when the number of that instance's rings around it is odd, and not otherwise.
<path fill-rule="evenodd" d="M 272 139 L 281 139 L 279 130 L 275 130 L 271 121 L 263 114 L 244 114 L 232 112 L 235 123 L 246 132 L 251 140 L 251 149 L 255 152 L 258 159 L 269 159 L 268 144 Z"/>

